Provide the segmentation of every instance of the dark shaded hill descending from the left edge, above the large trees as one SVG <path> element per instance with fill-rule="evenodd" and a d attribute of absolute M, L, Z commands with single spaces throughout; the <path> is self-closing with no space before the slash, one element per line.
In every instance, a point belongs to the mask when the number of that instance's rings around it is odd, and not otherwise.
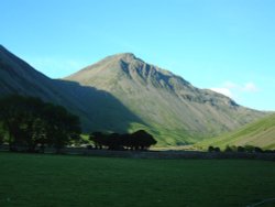
<path fill-rule="evenodd" d="M 20 94 L 58 101 L 52 79 L 0 45 L 0 95 Z"/>

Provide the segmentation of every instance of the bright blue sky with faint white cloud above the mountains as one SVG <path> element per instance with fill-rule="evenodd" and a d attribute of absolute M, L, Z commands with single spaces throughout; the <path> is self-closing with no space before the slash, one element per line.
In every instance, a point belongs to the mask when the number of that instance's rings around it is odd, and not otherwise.
<path fill-rule="evenodd" d="M 274 0 L 0 0 L 0 44 L 52 78 L 131 52 L 275 110 Z"/>

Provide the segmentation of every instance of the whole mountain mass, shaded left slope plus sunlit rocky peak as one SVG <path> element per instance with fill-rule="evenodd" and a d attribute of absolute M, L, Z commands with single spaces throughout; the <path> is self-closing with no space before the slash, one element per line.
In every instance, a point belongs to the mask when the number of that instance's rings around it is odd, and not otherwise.
<path fill-rule="evenodd" d="M 84 132 L 145 129 L 164 146 L 194 143 L 266 115 L 198 89 L 131 53 L 51 79 L 0 45 L 0 97 L 13 94 L 66 107 L 80 117 Z"/>

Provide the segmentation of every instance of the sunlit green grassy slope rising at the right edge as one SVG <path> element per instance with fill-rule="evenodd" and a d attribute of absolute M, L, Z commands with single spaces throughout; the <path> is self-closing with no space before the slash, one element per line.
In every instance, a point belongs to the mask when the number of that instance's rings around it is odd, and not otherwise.
<path fill-rule="evenodd" d="M 263 149 L 275 149 L 275 115 L 250 123 L 238 131 L 226 133 L 197 145 L 207 149 L 209 145 L 254 145 Z"/>

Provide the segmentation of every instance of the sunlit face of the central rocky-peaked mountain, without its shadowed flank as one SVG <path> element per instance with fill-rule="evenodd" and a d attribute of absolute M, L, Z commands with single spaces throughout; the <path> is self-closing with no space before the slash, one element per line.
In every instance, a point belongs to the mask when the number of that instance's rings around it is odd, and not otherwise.
<path fill-rule="evenodd" d="M 131 53 L 109 56 L 64 80 L 111 94 L 143 121 L 130 122 L 128 130 L 143 128 L 157 138 L 160 145 L 197 142 L 265 116 L 239 106 L 223 95 L 196 88 Z M 108 116 L 105 121 L 120 126 Z"/>

